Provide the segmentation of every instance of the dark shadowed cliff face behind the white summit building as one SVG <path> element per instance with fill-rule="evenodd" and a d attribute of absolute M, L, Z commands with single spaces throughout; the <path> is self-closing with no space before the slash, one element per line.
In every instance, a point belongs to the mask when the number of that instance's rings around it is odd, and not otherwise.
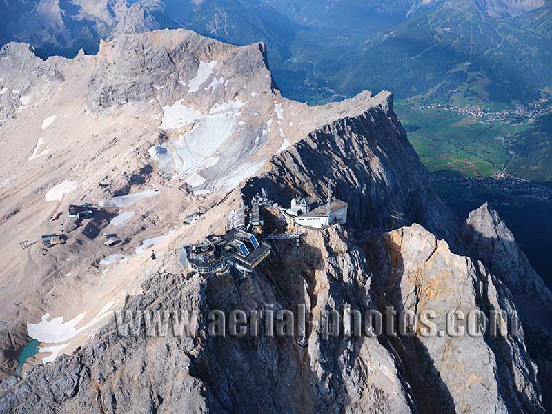
<path fill-rule="evenodd" d="M 324 199 L 328 181 L 335 197 L 349 204 L 358 231 L 420 223 L 452 237 L 453 213 L 429 184 L 428 172 L 382 92 L 365 111 L 314 130 L 270 160 L 268 172 L 248 181 L 246 199 L 266 188 L 280 204 L 298 193 Z"/>

